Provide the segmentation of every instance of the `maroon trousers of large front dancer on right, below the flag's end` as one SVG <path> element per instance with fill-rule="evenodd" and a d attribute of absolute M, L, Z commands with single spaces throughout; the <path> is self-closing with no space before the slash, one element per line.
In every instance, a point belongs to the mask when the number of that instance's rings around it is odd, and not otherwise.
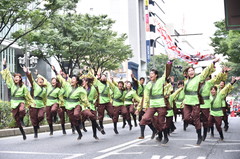
<path fill-rule="evenodd" d="M 195 125 L 196 130 L 201 129 L 200 105 L 184 105 L 184 121 Z"/>

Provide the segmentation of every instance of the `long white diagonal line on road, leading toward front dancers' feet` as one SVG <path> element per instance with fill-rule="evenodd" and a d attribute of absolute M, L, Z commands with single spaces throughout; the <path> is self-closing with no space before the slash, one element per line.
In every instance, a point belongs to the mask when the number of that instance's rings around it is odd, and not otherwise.
<path fill-rule="evenodd" d="M 149 136 L 149 138 L 150 138 L 150 136 Z M 121 154 L 121 153 L 119 153 L 119 152 L 121 152 L 121 151 L 123 151 L 123 150 L 126 150 L 126 149 L 129 149 L 129 148 L 131 148 L 131 147 L 133 147 L 135 144 L 140 144 L 140 143 L 144 143 L 144 142 L 147 142 L 147 141 L 149 141 L 149 140 L 151 140 L 151 139 L 143 139 L 143 140 L 138 140 L 139 142 L 135 142 L 134 144 L 132 144 L 132 145 L 127 145 L 127 146 L 125 146 L 124 144 L 122 144 L 122 145 L 124 145 L 125 147 L 123 147 L 123 148 L 119 148 L 119 145 L 118 146 L 115 146 L 115 147 L 117 147 L 118 149 L 116 149 L 116 150 L 114 150 L 114 151 L 111 151 L 111 152 L 108 152 L 108 153 L 105 153 L 105 154 L 103 154 L 103 155 L 101 155 L 101 156 L 97 156 L 97 157 L 95 157 L 94 159 L 102 159 L 102 158 L 105 158 L 105 157 L 108 157 L 108 156 L 111 156 L 111 155 L 116 155 L 116 154 Z"/>

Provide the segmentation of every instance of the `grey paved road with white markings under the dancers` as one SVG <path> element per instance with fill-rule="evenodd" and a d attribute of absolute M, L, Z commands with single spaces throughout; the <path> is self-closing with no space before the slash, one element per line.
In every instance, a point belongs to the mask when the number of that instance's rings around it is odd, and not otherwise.
<path fill-rule="evenodd" d="M 38 139 L 27 135 L 23 141 L 21 136 L 0 138 L 0 159 L 240 159 L 240 118 L 229 118 L 229 131 L 224 133 L 225 140 L 218 141 L 219 135 L 207 137 L 201 146 L 195 146 L 196 133 L 194 127 L 182 130 L 182 122 L 176 123 L 177 130 L 171 134 L 166 146 L 156 140 L 151 140 L 151 132 L 146 128 L 146 137 L 139 140 L 139 127 L 132 131 L 121 128 L 115 135 L 112 124 L 106 124 L 106 135 L 98 133 L 100 140 L 92 137 L 90 127 L 84 133 L 82 140 L 76 140 L 77 135 L 67 130 L 67 135 L 61 131 L 40 133 Z"/>

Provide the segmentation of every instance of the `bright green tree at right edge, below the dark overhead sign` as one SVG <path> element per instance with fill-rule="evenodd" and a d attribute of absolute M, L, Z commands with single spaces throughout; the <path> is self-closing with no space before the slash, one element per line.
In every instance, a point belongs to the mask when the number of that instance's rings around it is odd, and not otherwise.
<path fill-rule="evenodd" d="M 214 23 L 217 30 L 211 37 L 211 46 L 214 47 L 215 54 L 222 54 L 227 57 L 230 62 L 240 62 L 240 31 L 227 31 L 225 21 L 217 21 Z"/>

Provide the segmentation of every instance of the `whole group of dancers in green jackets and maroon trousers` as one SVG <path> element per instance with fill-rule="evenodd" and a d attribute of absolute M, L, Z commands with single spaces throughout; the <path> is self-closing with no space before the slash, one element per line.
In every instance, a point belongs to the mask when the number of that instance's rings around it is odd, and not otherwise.
<path fill-rule="evenodd" d="M 19 127 L 23 139 L 26 134 L 23 129 L 23 118 L 26 108 L 29 108 L 30 119 L 34 129 L 34 138 L 38 138 L 40 122 L 46 119 L 49 124 L 50 135 L 53 135 L 53 123 L 58 114 L 63 134 L 65 130 L 65 112 L 69 117 L 73 133 L 78 133 L 78 140 L 82 138 L 81 128 L 85 129 L 84 122 L 91 121 L 93 137 L 99 139 L 97 130 L 105 134 L 103 119 L 105 110 L 112 119 L 113 130 L 118 134 L 117 123 L 119 116 L 123 117 L 123 128 L 128 124 L 132 130 L 132 119 L 134 126 L 140 125 L 140 137 L 144 139 L 145 126 L 152 130 L 151 138 L 157 135 L 157 140 L 166 144 L 169 141 L 169 133 L 176 129 L 173 118 L 177 114 L 182 115 L 183 129 L 189 124 L 195 126 L 197 133 L 197 145 L 206 139 L 208 130 L 212 130 L 215 123 L 220 139 L 223 140 L 221 128 L 222 120 L 225 123 L 225 131 L 228 130 L 228 118 L 226 113 L 226 96 L 233 89 L 233 84 L 239 77 L 232 77 L 229 84 L 225 84 L 229 68 L 224 67 L 222 72 L 211 77 L 215 72 L 215 59 L 200 74 L 196 75 L 193 67 L 184 70 L 184 80 L 177 81 L 175 89 L 174 80 L 170 78 L 173 60 L 166 64 L 164 74 L 158 71 L 150 71 L 150 80 L 145 83 L 145 78 L 138 81 L 132 75 L 132 81 L 114 81 L 108 79 L 105 74 L 94 75 L 89 69 L 88 73 L 73 75 L 71 78 L 63 71 L 52 70 L 56 77 L 47 81 L 37 73 L 34 80 L 31 72 L 24 67 L 31 90 L 22 81 L 22 75 L 15 73 L 12 77 L 3 61 L 2 78 L 11 91 L 11 108 L 16 124 Z M 134 88 L 134 89 L 133 89 Z M 99 121 L 99 123 L 97 122 Z M 203 130 L 203 134 L 202 134 Z"/>

